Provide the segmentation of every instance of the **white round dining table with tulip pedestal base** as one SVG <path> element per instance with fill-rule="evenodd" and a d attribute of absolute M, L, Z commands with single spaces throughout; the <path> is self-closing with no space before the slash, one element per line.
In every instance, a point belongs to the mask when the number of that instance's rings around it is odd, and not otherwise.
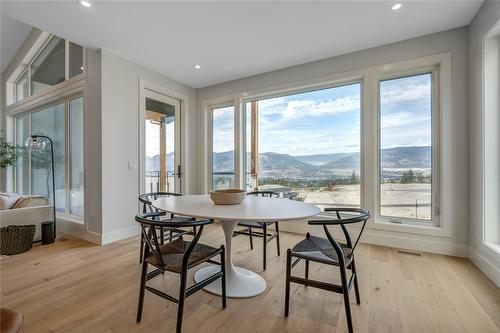
<path fill-rule="evenodd" d="M 163 197 L 153 201 L 152 205 L 176 215 L 220 221 L 226 240 L 226 295 L 234 298 L 253 297 L 266 290 L 266 281 L 259 274 L 233 264 L 231 241 L 238 222 L 300 220 L 320 213 L 318 207 L 308 203 L 252 195 L 238 205 L 216 205 L 207 194 Z M 202 281 L 218 270 L 219 266 L 203 267 L 195 273 L 194 279 Z M 220 279 L 204 289 L 221 295 Z"/>

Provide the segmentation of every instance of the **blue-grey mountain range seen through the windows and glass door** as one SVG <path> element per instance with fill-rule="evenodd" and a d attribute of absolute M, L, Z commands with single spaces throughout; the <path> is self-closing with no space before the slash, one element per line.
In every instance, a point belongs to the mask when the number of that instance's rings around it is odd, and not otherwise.
<path fill-rule="evenodd" d="M 248 155 L 250 160 L 250 155 Z M 169 171 L 173 171 L 174 155 L 167 155 Z M 404 169 L 431 168 L 432 149 L 423 147 L 395 147 L 382 149 L 382 168 L 390 170 L 390 174 L 400 174 Z M 345 177 L 356 171 L 359 174 L 359 153 L 335 153 L 292 156 L 279 153 L 259 154 L 260 177 L 286 178 L 330 178 Z M 214 172 L 232 172 L 234 170 L 234 153 L 226 151 L 214 153 Z M 147 157 L 147 170 L 159 170 L 159 155 Z M 385 172 L 385 171 L 384 171 Z"/>

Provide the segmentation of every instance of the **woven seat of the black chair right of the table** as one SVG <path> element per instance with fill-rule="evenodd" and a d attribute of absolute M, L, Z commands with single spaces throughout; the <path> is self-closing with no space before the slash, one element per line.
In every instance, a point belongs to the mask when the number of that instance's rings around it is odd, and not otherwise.
<path fill-rule="evenodd" d="M 339 245 L 344 252 L 346 266 L 349 266 L 351 249 L 348 248 L 346 244 L 339 243 Z M 292 248 L 292 255 L 328 265 L 338 266 L 339 264 L 337 253 L 328 239 L 316 236 L 309 236 L 309 238 L 297 243 Z"/>

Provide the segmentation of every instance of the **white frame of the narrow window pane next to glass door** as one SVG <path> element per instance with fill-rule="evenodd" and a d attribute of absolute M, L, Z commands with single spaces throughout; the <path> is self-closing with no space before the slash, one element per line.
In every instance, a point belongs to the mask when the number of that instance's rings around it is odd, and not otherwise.
<path fill-rule="evenodd" d="M 207 189 L 209 191 L 213 191 L 215 190 L 214 189 L 214 186 L 213 186 L 213 175 L 214 175 L 214 170 L 213 170 L 213 154 L 214 154 L 214 151 L 213 151 L 213 138 L 214 138 L 214 131 L 213 131 L 213 118 L 214 118 L 214 110 L 215 109 L 222 109 L 222 108 L 227 108 L 227 107 L 233 107 L 234 108 L 234 123 L 233 123 L 233 159 L 234 159 L 234 172 L 233 172 L 233 176 L 234 176 L 234 187 L 238 187 L 238 178 L 237 178 L 237 173 L 238 173 L 238 167 L 237 167 L 237 163 L 236 163 L 236 158 L 237 158 L 237 155 L 238 155 L 238 152 L 237 152 L 237 108 L 236 108 L 236 104 L 234 103 L 233 100 L 227 100 L 226 102 L 221 102 L 221 103 L 215 103 L 215 104 L 210 104 L 208 106 L 208 119 L 207 119 L 207 125 L 208 125 L 208 140 L 207 140 L 207 144 L 208 144 L 208 174 L 207 174 L 207 183 L 205 184 L 207 186 Z"/>

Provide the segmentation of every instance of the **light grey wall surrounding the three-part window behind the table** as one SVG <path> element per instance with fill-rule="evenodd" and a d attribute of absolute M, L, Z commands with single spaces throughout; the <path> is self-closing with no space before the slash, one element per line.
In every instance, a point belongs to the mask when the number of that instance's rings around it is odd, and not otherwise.
<path fill-rule="evenodd" d="M 370 229 L 365 233 L 364 241 L 467 256 L 467 36 L 467 28 L 464 27 L 198 89 L 196 92 L 198 112 L 204 112 L 202 106 L 206 100 L 217 100 L 225 96 L 231 97 L 265 89 L 272 90 L 273 87 L 290 87 L 294 83 L 300 86 L 303 82 L 326 76 L 351 73 L 374 66 L 449 52 L 451 54 L 452 108 L 451 116 L 444 120 L 447 122 L 444 124 L 447 130 L 441 134 L 445 136 L 442 138 L 444 145 L 442 147 L 444 159 L 442 164 L 444 167 L 448 166 L 446 170 L 443 170 L 443 173 L 446 173 L 449 180 L 447 191 L 449 195 L 444 199 L 450 203 L 443 219 L 446 218 L 452 223 L 450 236 L 430 236 Z M 374 114 L 375 110 L 373 110 L 372 105 L 364 107 L 365 113 Z M 203 136 L 198 138 L 200 149 L 205 146 L 203 138 Z M 201 155 L 200 151 L 199 156 Z M 443 212 L 444 214 L 445 212 Z M 283 230 L 297 232 L 305 232 L 308 229 L 305 223 L 282 223 L 280 227 Z"/>

